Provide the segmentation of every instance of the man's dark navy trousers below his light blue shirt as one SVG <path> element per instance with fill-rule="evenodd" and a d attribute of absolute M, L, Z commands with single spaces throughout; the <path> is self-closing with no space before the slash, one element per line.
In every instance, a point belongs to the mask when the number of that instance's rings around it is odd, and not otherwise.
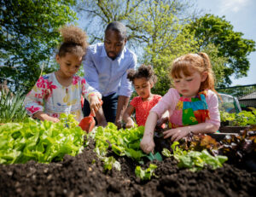
<path fill-rule="evenodd" d="M 102 109 L 107 122 L 112 122 L 112 123 L 115 122 L 118 98 L 119 96 L 117 93 L 113 93 L 112 95 L 109 95 L 109 96 L 102 96 L 102 101 L 103 101 Z M 89 116 L 90 114 L 90 105 L 86 99 L 84 99 L 83 113 L 84 113 L 84 117 Z"/>

